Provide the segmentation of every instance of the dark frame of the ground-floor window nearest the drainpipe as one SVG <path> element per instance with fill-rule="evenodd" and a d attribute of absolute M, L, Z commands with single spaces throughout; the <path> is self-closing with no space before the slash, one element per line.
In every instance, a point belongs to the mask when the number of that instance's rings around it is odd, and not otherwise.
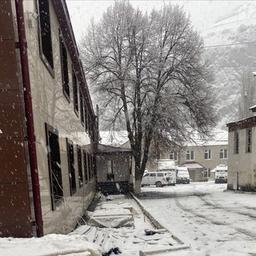
<path fill-rule="evenodd" d="M 53 173 L 53 162 L 52 162 L 52 150 L 51 150 L 51 145 L 50 145 L 50 133 L 57 136 L 57 141 L 58 141 L 58 156 L 59 158 L 58 163 L 55 165 L 55 168 L 59 168 L 59 174 L 58 173 Z M 48 170 L 49 170 L 49 185 L 50 185 L 50 194 L 51 194 L 51 206 L 52 210 L 56 210 L 56 207 L 60 205 L 63 202 L 63 181 L 62 181 L 62 171 L 61 171 L 61 157 L 60 157 L 60 147 L 59 147 L 59 134 L 58 130 L 54 129 L 52 126 L 49 124 L 45 123 L 45 134 L 46 134 L 46 146 L 47 146 L 47 159 L 48 159 Z M 58 170 L 57 168 L 57 170 Z M 59 177 L 58 177 L 59 176 Z M 55 194 L 54 191 L 54 178 L 57 180 L 56 184 L 60 187 L 60 190 L 57 192 L 60 192 L 60 194 Z M 56 197 L 60 197 L 59 199 L 56 199 Z"/>

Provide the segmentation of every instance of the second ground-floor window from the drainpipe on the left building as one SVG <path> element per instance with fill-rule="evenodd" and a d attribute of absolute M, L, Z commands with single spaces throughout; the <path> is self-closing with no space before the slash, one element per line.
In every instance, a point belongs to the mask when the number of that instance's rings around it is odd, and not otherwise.
<path fill-rule="evenodd" d="M 76 192 L 76 175 L 74 166 L 74 147 L 71 141 L 67 139 L 67 157 L 68 157 L 68 176 L 70 195 Z"/>

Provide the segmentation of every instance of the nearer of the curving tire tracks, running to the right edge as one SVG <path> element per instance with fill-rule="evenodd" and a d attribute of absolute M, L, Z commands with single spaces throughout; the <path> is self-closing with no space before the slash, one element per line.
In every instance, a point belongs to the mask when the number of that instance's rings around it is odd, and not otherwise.
<path fill-rule="evenodd" d="M 197 196 L 198 197 L 198 196 Z M 204 215 L 204 214 L 201 214 L 201 213 L 198 213 L 197 211 L 191 209 L 191 208 L 188 208 L 188 207 L 185 207 L 179 200 L 178 198 L 175 198 L 175 203 L 177 205 L 177 207 L 179 207 L 181 210 L 183 210 L 184 212 L 189 212 L 190 214 L 194 215 L 195 217 L 198 217 L 198 218 L 201 218 L 205 221 L 208 221 L 210 222 L 211 224 L 214 224 L 214 225 L 223 225 L 223 226 L 228 226 L 232 229 L 234 229 L 236 232 L 240 233 L 240 234 L 243 234 L 243 235 L 246 235 L 248 236 L 249 238 L 251 239 L 255 239 L 256 238 L 256 232 L 253 232 L 253 231 L 250 231 L 250 230 L 247 230 L 245 228 L 241 228 L 241 227 L 236 227 L 236 226 L 233 226 L 227 222 L 222 222 L 222 221 L 218 221 L 218 220 L 213 220 L 212 218 Z"/>

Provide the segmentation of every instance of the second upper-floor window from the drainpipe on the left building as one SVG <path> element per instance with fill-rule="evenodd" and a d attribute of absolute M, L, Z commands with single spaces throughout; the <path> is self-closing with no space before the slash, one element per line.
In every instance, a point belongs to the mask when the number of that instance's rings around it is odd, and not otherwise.
<path fill-rule="evenodd" d="M 60 35 L 60 61 L 63 93 L 70 100 L 69 77 L 68 77 L 68 53 L 63 38 Z"/>

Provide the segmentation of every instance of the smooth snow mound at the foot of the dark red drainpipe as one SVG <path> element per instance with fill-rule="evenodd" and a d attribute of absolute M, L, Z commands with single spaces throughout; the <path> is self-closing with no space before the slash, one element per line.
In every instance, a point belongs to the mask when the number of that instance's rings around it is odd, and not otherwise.
<path fill-rule="evenodd" d="M 51 234 L 41 238 L 0 238 L 0 255 L 100 256 L 101 252 L 85 236 Z"/>

